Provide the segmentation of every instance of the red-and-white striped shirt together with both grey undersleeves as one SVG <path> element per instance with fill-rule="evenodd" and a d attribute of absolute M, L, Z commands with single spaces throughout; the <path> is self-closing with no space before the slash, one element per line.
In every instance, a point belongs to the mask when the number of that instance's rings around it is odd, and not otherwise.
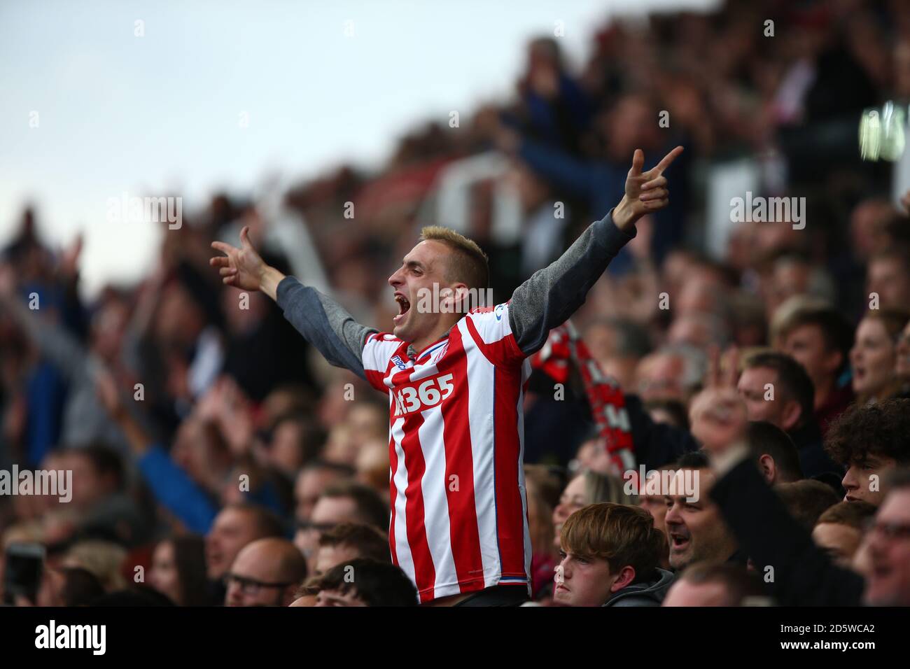
<path fill-rule="evenodd" d="M 318 290 L 293 277 L 278 284 L 285 318 L 326 360 L 389 393 L 389 544 L 421 601 L 527 587 L 526 356 L 581 306 L 632 237 L 607 214 L 509 302 L 471 311 L 413 360 L 407 341 L 360 325 Z"/>

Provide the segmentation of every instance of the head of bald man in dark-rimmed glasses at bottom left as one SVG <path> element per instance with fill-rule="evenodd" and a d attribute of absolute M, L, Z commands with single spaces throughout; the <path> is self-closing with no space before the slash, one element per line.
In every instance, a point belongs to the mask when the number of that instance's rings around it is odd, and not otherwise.
<path fill-rule="evenodd" d="M 226 606 L 288 606 L 307 576 L 297 547 L 276 537 L 248 543 L 225 574 Z"/>

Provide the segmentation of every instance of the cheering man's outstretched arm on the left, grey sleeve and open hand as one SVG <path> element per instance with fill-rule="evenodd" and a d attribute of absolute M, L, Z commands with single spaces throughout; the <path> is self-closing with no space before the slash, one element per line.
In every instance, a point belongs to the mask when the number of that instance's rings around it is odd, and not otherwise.
<path fill-rule="evenodd" d="M 275 300 L 290 324 L 329 363 L 365 379 L 363 345 L 369 333 L 377 330 L 360 325 L 338 302 L 319 290 L 269 267 L 250 243 L 248 230 L 240 230 L 240 248 L 212 242 L 212 248 L 225 254 L 209 260 L 212 267 L 219 268 L 221 280 L 241 290 L 264 292 Z"/>

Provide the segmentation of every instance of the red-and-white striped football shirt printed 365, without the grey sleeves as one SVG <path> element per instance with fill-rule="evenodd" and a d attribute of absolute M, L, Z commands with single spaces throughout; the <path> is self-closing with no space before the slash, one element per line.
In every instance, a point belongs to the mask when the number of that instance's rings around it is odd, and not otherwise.
<path fill-rule="evenodd" d="M 367 380 L 389 393 L 392 560 L 420 602 L 530 581 L 523 387 L 531 365 L 509 303 L 474 309 L 448 336 L 408 357 L 373 333 Z"/>

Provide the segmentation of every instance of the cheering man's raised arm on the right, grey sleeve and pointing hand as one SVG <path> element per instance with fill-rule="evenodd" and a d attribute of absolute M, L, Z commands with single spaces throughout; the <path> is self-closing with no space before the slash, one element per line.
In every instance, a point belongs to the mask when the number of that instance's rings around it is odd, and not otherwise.
<path fill-rule="evenodd" d="M 635 222 L 669 204 L 663 170 L 681 153 L 682 147 L 676 147 L 656 167 L 642 172 L 644 154 L 636 149 L 622 201 L 582 232 L 560 258 L 515 289 L 509 321 L 523 353 L 531 355 L 541 349 L 550 330 L 581 307 L 612 258 L 635 237 Z"/>

